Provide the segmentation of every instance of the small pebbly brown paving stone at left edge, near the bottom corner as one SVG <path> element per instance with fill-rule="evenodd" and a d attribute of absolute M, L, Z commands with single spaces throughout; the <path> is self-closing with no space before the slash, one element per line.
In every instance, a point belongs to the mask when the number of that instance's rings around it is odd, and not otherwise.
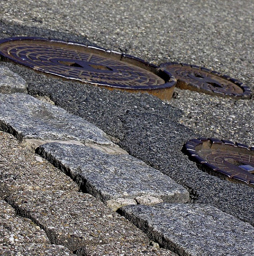
<path fill-rule="evenodd" d="M 10 205 L 0 200 L 0 244 L 17 246 L 27 243 L 48 244 L 50 240 L 33 221 L 17 216 Z"/>

